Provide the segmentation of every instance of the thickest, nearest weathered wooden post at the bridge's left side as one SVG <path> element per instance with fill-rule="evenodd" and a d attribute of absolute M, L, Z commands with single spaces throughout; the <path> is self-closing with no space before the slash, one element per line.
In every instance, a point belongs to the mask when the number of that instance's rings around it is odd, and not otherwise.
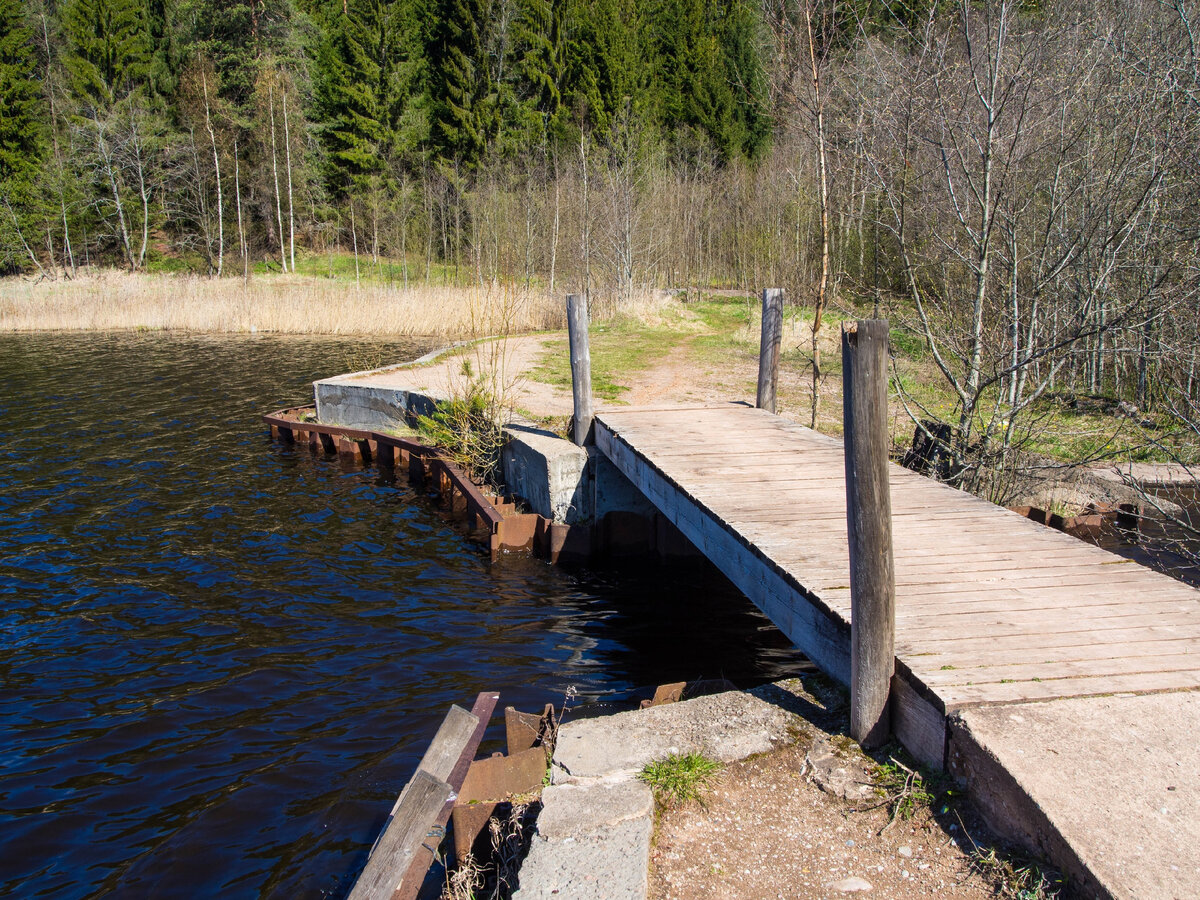
<path fill-rule="evenodd" d="M 888 486 L 888 323 L 842 325 L 842 424 L 850 535 L 850 734 L 864 748 L 890 732 L 895 577 Z"/>

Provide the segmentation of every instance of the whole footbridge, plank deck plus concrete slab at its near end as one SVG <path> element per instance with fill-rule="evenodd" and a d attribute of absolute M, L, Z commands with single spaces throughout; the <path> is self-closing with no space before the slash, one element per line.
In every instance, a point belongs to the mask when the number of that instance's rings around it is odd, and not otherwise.
<path fill-rule="evenodd" d="M 841 440 L 728 404 L 600 412 L 595 442 L 848 682 Z M 896 736 L 1091 892 L 1200 895 L 1200 592 L 898 466 L 889 481 Z M 1147 876 L 1147 854 L 1170 862 Z"/>

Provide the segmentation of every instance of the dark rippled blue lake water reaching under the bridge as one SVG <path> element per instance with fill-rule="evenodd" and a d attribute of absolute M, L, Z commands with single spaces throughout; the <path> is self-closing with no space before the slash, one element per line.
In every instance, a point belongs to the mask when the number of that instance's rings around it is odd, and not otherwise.
<path fill-rule="evenodd" d="M 799 665 L 707 568 L 493 564 L 268 439 L 424 349 L 0 336 L 0 895 L 340 896 L 450 703 Z"/>

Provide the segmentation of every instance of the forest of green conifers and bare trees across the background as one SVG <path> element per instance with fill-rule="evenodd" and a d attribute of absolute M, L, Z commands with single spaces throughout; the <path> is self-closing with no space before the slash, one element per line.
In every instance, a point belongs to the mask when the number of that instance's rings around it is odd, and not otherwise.
<path fill-rule="evenodd" d="M 0 0 L 0 268 L 781 286 L 815 385 L 852 298 L 979 473 L 1064 392 L 1200 421 L 1198 7 Z"/>

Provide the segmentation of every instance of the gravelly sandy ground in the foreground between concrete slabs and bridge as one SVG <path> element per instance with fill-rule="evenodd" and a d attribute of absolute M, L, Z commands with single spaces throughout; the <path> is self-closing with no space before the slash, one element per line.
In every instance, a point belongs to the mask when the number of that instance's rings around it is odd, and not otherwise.
<path fill-rule="evenodd" d="M 703 805 L 660 812 L 653 900 L 997 896 L 972 865 L 973 841 L 985 846 L 986 832 L 964 800 L 947 805 L 938 794 L 893 821 L 874 762 L 845 736 L 842 697 L 814 696 L 824 715 L 794 746 L 727 767 Z"/>

